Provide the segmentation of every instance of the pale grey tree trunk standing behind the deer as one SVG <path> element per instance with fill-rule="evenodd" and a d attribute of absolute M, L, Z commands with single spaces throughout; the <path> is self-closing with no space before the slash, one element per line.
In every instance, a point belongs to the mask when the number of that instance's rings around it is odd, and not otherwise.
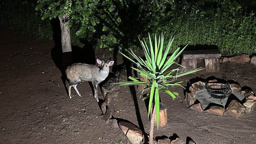
<path fill-rule="evenodd" d="M 60 29 L 61 29 L 61 47 L 62 52 L 71 52 L 71 41 L 70 41 L 70 28 L 66 27 L 68 21 L 65 22 L 66 16 L 59 16 Z"/>

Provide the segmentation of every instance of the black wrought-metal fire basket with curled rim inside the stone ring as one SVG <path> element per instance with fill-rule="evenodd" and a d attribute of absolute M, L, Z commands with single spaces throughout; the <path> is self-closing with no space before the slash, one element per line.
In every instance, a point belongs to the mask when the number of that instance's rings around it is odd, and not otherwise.
<path fill-rule="evenodd" d="M 211 96 L 210 98 L 220 99 L 221 104 L 222 104 L 221 100 L 228 97 L 232 92 L 228 83 L 227 84 L 207 83 L 205 84 L 205 88 L 209 93 L 209 95 Z"/>

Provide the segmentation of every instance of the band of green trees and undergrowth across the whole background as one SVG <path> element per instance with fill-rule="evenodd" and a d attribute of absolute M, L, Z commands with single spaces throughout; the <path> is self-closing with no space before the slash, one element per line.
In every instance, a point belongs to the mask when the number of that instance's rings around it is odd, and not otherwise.
<path fill-rule="evenodd" d="M 83 46 L 80 39 L 86 39 L 95 48 L 142 51 L 135 37 L 165 31 L 165 36 L 176 36 L 170 52 L 181 45 L 202 44 L 217 45 L 223 55 L 256 53 L 256 1 L 0 0 L 0 3 L 1 26 L 37 37 L 51 38 L 50 19 L 66 15 L 68 26 L 72 26 L 73 45 Z"/>

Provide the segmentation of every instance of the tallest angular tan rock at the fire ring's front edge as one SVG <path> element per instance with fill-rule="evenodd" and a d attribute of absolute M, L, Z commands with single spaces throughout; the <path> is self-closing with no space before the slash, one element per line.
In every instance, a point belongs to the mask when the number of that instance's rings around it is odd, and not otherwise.
<path fill-rule="evenodd" d="M 244 112 L 245 107 L 236 100 L 232 100 L 226 109 L 226 114 L 234 117 L 241 117 L 244 115 Z"/>

